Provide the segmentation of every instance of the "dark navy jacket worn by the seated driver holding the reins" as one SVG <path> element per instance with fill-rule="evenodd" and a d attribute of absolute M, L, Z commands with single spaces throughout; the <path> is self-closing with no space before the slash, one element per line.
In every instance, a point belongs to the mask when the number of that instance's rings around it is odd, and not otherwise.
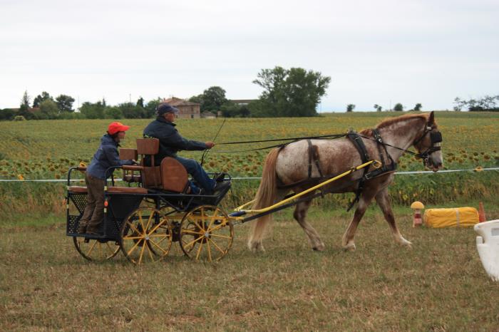
<path fill-rule="evenodd" d="M 154 158 L 155 165 L 160 165 L 164 157 L 177 157 L 177 152 L 180 150 L 205 150 L 207 148 L 204 142 L 182 138 L 175 129 L 175 123 L 170 123 L 160 116 L 145 127 L 143 134 L 144 138 L 160 140 L 160 150 Z"/>

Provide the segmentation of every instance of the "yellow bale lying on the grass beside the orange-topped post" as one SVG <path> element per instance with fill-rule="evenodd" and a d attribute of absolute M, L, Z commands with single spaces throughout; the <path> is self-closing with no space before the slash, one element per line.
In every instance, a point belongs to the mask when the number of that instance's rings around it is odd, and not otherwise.
<path fill-rule="evenodd" d="M 427 209 L 424 212 L 426 226 L 473 227 L 478 224 L 478 211 L 474 207 L 455 207 L 451 209 Z"/>

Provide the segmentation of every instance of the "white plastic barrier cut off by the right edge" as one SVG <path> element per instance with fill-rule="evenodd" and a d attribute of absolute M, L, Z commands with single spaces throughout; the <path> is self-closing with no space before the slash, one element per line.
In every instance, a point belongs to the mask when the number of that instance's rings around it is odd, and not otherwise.
<path fill-rule="evenodd" d="M 480 236 L 476 237 L 476 248 L 483 268 L 494 281 L 499 281 L 499 219 L 480 222 L 473 227 Z"/>

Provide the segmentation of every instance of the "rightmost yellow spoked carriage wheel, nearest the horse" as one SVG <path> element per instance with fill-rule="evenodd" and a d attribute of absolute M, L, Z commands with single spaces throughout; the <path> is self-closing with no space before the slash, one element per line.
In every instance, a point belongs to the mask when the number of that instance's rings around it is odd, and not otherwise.
<path fill-rule="evenodd" d="M 180 247 L 191 259 L 218 261 L 232 247 L 233 239 L 232 223 L 219 207 L 196 207 L 180 223 Z"/>

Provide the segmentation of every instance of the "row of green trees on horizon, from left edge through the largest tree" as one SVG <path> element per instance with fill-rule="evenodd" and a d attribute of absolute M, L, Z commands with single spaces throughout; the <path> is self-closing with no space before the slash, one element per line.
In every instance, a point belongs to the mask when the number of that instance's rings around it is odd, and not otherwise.
<path fill-rule="evenodd" d="M 220 86 L 212 86 L 200 95 L 187 98 L 190 102 L 200 103 L 201 112 L 222 113 L 224 117 L 297 117 L 317 115 L 317 105 L 326 95 L 331 78 L 317 71 L 304 68 L 282 68 L 276 66 L 262 69 L 252 83 L 263 88 L 262 95 L 248 104 L 232 103 Z M 85 102 L 75 111 L 75 99 L 70 95 L 53 98 L 43 91 L 30 103 L 25 91 L 19 109 L 0 110 L 0 120 L 44 120 L 73 118 L 151 118 L 161 98 L 145 102 L 139 98 L 136 103 L 107 105 L 106 100 L 96 103 Z"/>

